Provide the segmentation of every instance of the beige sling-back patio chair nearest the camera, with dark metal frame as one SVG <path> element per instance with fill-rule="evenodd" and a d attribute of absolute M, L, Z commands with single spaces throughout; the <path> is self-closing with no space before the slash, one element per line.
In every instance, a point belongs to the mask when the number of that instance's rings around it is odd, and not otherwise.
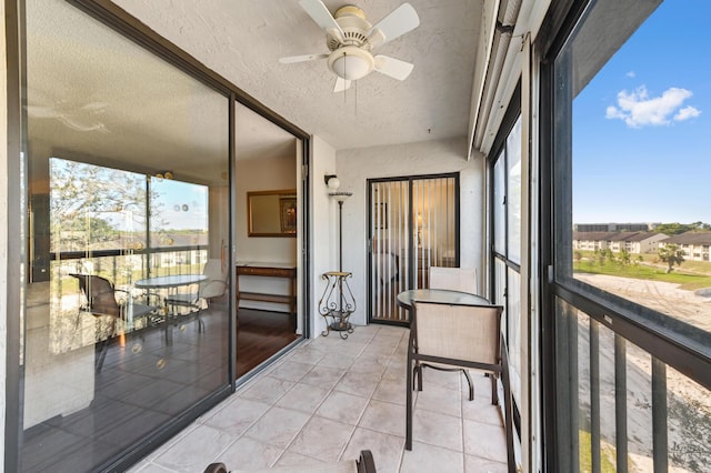
<path fill-rule="evenodd" d="M 509 360 L 500 330 L 502 311 L 501 305 L 413 301 L 408 345 L 407 450 L 412 450 L 412 376 L 417 373 L 420 374 L 418 390 L 422 390 L 420 365 L 483 371 L 490 373 L 491 403 L 494 405 L 499 404 L 497 379 L 501 379 L 508 469 L 515 472 Z"/>

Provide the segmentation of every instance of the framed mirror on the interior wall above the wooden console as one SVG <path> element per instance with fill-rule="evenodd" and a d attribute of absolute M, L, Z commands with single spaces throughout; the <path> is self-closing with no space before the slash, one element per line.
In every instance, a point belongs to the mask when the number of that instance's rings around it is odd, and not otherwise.
<path fill-rule="evenodd" d="M 247 193 L 249 236 L 296 236 L 297 190 Z"/>

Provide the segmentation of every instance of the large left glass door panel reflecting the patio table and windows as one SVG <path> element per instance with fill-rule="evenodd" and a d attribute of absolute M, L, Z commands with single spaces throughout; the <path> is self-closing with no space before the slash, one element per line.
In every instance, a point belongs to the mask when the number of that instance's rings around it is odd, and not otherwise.
<path fill-rule="evenodd" d="M 117 470 L 229 383 L 229 99 L 68 2 L 26 21 L 21 470 Z"/>

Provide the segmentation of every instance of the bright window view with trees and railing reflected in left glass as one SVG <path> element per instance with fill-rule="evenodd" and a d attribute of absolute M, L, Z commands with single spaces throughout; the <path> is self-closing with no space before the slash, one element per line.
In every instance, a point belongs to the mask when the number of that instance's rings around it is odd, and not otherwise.
<path fill-rule="evenodd" d="M 50 298 L 56 301 L 50 306 L 51 351 L 93 345 L 161 322 L 161 301 L 137 290 L 134 282 L 201 273 L 208 260 L 208 188 L 59 158 L 49 161 Z M 41 218 L 36 215 L 34 222 Z M 97 309 L 93 299 L 103 280 L 112 294 Z"/>

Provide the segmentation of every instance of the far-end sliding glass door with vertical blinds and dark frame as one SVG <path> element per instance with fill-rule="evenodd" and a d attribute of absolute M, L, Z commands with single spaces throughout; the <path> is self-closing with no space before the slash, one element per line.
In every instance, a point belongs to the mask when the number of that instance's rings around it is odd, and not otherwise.
<path fill-rule="evenodd" d="M 459 265 L 459 174 L 371 180 L 369 202 L 368 318 L 407 324 L 398 293 Z"/>

